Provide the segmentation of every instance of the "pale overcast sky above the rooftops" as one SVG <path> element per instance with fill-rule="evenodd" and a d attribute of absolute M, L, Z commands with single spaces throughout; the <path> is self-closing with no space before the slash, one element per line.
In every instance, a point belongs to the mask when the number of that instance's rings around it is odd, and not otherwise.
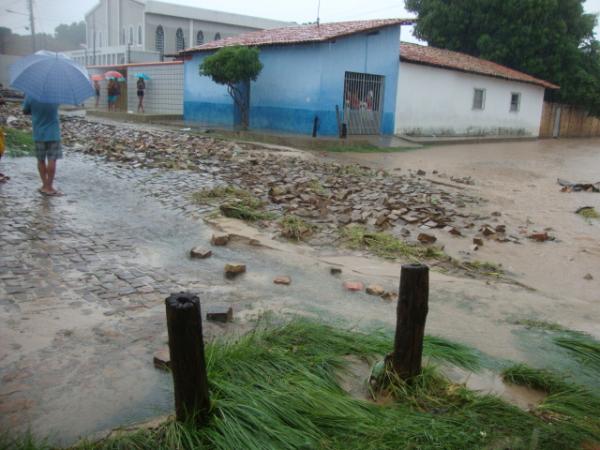
<path fill-rule="evenodd" d="M 163 1 L 298 23 L 314 21 L 319 4 L 319 0 L 220 0 L 218 3 L 214 0 Z M 84 14 L 97 3 L 97 0 L 34 0 L 36 29 L 52 33 L 61 23 L 83 20 Z M 587 0 L 585 7 L 588 12 L 600 12 L 600 0 Z M 7 9 L 21 14 L 9 13 Z M 25 34 L 25 27 L 29 24 L 26 13 L 27 0 L 0 0 L 0 26 Z M 322 22 L 410 17 L 404 9 L 404 0 L 321 0 L 320 16 Z M 409 39 L 410 33 L 409 29 L 403 28 L 402 39 L 414 40 Z M 600 33 L 600 29 L 596 33 Z"/>

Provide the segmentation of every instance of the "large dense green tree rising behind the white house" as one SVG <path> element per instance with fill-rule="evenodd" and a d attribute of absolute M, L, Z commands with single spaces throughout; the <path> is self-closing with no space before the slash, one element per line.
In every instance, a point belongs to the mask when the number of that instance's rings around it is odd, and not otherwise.
<path fill-rule="evenodd" d="M 551 81 L 551 100 L 600 115 L 597 19 L 584 1 L 405 0 L 418 38 Z"/>

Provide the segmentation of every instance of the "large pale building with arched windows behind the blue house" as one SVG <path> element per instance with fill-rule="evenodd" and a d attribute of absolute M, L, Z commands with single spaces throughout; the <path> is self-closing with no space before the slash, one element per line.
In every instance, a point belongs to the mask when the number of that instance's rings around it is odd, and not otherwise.
<path fill-rule="evenodd" d="M 84 65 L 155 62 L 184 48 L 289 25 L 154 0 L 100 0 L 86 15 L 86 46 L 67 52 Z"/>

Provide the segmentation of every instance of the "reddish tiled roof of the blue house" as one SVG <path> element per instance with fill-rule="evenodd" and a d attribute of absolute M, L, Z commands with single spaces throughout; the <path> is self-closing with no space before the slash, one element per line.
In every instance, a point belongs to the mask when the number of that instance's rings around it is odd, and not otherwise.
<path fill-rule="evenodd" d="M 183 50 L 181 53 L 215 50 L 234 45 L 260 47 L 266 45 L 290 45 L 310 42 L 326 42 L 342 36 L 373 31 L 378 28 L 394 25 L 408 25 L 413 22 L 414 19 L 380 19 L 275 28 L 271 30 L 253 31 L 227 39 L 208 42 L 198 47 L 192 47 Z"/>

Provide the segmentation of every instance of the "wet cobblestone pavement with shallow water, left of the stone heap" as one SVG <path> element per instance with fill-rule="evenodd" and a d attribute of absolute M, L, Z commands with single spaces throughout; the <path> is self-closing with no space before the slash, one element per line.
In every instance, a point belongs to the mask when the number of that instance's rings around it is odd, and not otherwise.
<path fill-rule="evenodd" d="M 171 379 L 152 354 L 166 343 L 172 292 L 230 303 L 242 322 L 262 309 L 323 316 L 343 304 L 363 322 L 393 311 L 364 294 L 344 298 L 326 265 L 299 267 L 276 251 L 238 244 L 190 260 L 213 230 L 194 217 L 188 194 L 218 181 L 210 174 L 131 170 L 68 152 L 57 176 L 65 195 L 48 198 L 37 192 L 34 159 L 3 160 L 3 169 L 12 179 L 0 186 L 0 430 L 30 427 L 69 443 L 169 413 Z M 229 281 L 223 266 L 234 261 L 249 270 Z M 274 286 L 276 275 L 291 275 L 292 286 Z"/>

